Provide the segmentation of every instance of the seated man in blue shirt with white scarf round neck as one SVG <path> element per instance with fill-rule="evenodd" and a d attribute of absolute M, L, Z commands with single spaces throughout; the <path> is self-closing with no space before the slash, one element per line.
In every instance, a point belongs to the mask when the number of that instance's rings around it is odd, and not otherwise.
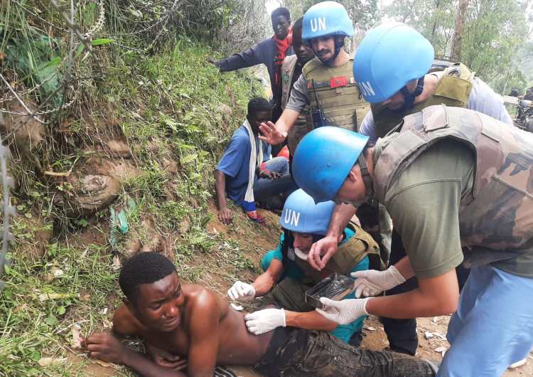
<path fill-rule="evenodd" d="M 227 208 L 227 198 L 242 206 L 249 218 L 261 222 L 255 202 L 269 202 L 282 199 L 296 189 L 289 174 L 289 161 L 284 157 L 270 159 L 271 147 L 257 137 L 259 124 L 270 120 L 270 103 L 261 97 L 248 102 L 247 119 L 239 127 L 226 147 L 215 170 L 218 218 L 222 223 L 232 221 L 232 211 Z M 252 149 L 253 147 L 253 149 Z M 226 198 L 227 195 L 227 198 Z"/>

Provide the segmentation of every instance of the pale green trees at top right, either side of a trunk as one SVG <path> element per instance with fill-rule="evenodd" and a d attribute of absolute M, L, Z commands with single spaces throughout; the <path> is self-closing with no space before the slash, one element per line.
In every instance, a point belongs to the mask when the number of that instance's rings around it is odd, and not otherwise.
<path fill-rule="evenodd" d="M 384 15 L 408 23 L 426 36 L 437 55 L 451 55 L 456 0 L 401 0 L 384 7 Z M 523 0 L 468 2 L 461 61 L 502 94 L 525 89 L 530 75 L 525 64 L 533 46 L 533 9 Z M 524 64 L 522 64 L 524 63 Z"/>

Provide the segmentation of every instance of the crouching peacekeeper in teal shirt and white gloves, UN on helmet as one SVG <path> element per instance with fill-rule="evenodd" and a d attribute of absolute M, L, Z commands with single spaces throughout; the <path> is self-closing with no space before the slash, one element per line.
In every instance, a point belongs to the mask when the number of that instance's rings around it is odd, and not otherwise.
<path fill-rule="evenodd" d="M 315 204 L 302 190 L 294 191 L 285 202 L 280 223 L 284 229 L 278 248 L 266 253 L 262 260 L 264 273 L 248 284 L 237 281 L 227 291 L 233 301 L 249 301 L 269 294 L 269 300 L 281 309 L 262 309 L 245 317 L 248 330 L 264 334 L 279 326 L 331 331 L 333 336 L 348 342 L 360 331 L 365 316 L 338 325 L 325 319 L 305 301 L 305 292 L 333 272 L 350 276 L 350 272 L 380 268 L 379 249 L 364 230 L 350 224 L 340 235 L 339 251 L 325 268 L 318 272 L 308 265 L 311 244 L 328 230 L 333 201 Z M 371 263 L 372 261 L 372 263 Z M 355 297 L 350 294 L 347 298 Z M 360 337 L 354 336 L 354 341 Z M 353 344 L 353 341 L 350 342 Z"/>

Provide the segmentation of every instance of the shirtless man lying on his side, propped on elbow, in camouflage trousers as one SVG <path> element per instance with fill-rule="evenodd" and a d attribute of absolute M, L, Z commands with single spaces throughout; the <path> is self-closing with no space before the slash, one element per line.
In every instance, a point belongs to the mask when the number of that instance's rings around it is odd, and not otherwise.
<path fill-rule="evenodd" d="M 113 332 L 144 338 L 153 359 L 126 348 L 109 333 L 92 334 L 82 344 L 90 357 L 129 366 L 146 377 L 211 377 L 216 364 L 256 366 L 266 376 L 436 373 L 429 362 L 355 349 L 323 331 L 279 327 L 252 335 L 244 314 L 215 292 L 182 285 L 171 260 L 158 253 L 141 253 L 124 262 L 119 284 L 126 299 L 114 314 Z M 176 356 L 187 359 L 186 372 L 173 368 L 180 363 Z"/>

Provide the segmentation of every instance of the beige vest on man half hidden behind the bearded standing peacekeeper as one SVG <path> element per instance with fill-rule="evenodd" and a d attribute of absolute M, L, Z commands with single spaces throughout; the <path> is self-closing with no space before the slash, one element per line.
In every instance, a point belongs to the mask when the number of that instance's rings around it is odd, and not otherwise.
<path fill-rule="evenodd" d="M 291 83 L 297 62 L 296 55 L 289 55 L 283 60 L 283 65 L 281 65 L 281 110 L 285 110 L 287 102 L 289 102 Z M 300 140 L 312 129 L 313 122 L 311 121 L 309 106 L 306 106 L 298 115 L 296 122 L 289 129 L 289 134 L 287 135 L 287 144 L 292 156 L 294 156 Z"/>

